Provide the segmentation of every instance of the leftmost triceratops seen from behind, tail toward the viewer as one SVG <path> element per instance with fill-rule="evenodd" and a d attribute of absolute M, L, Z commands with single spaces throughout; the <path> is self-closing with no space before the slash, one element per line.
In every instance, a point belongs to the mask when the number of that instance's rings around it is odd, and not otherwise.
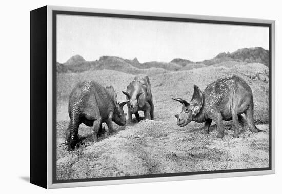
<path fill-rule="evenodd" d="M 112 86 L 104 88 L 94 81 L 77 84 L 69 97 L 70 123 L 66 131 L 66 145 L 73 150 L 77 143 L 78 128 L 81 123 L 93 126 L 94 140 L 98 132 L 102 132 L 102 123 L 106 122 L 109 132 L 113 131 L 112 121 L 118 125 L 126 124 L 123 106 L 116 101 L 116 93 Z"/>

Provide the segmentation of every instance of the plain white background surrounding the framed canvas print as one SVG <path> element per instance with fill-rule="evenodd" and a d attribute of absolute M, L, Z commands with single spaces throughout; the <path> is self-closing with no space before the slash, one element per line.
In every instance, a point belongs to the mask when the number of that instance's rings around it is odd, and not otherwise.
<path fill-rule="evenodd" d="M 280 1 L 2 1 L 1 3 L 1 193 L 281 193 L 281 142 L 278 123 L 282 72 Z M 276 20 L 276 175 L 45 190 L 29 179 L 30 13 L 44 5 L 108 8 Z M 40 65 L 40 64 L 38 64 Z M 4 105 L 4 108 L 3 108 Z M 281 115 L 281 114 L 280 114 Z M 279 180 L 280 179 L 280 180 Z"/>

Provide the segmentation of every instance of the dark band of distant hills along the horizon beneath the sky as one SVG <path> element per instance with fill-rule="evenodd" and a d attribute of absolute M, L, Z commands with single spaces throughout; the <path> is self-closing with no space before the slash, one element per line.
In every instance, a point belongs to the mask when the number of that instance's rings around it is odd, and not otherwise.
<path fill-rule="evenodd" d="M 61 64 L 57 62 L 57 72 L 83 72 L 94 70 L 115 70 L 130 74 L 159 74 L 169 71 L 190 70 L 202 68 L 216 64 L 230 64 L 240 62 L 237 65 L 247 63 L 262 63 L 269 66 L 269 51 L 261 47 L 239 49 L 233 53 L 220 53 L 210 60 L 202 62 L 192 62 L 187 59 L 176 58 L 170 62 L 151 61 L 140 63 L 137 58 L 133 60 L 123 59 L 116 56 L 102 56 L 96 61 L 85 61 L 82 56 L 72 56 L 67 62 Z"/>

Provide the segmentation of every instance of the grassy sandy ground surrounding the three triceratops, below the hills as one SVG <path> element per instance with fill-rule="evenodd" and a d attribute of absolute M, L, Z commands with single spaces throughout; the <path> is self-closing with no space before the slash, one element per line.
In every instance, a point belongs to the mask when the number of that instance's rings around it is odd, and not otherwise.
<path fill-rule="evenodd" d="M 238 67 L 229 64 L 150 76 L 154 121 L 127 123 L 123 127 L 114 124 L 116 131 L 105 133 L 98 142 L 93 142 L 91 127 L 82 124 L 78 147 L 70 152 L 64 142 L 69 122 L 68 96 L 74 85 L 83 80 L 113 85 L 117 100 L 123 101 L 122 90 L 126 90 L 135 75 L 113 70 L 57 74 L 57 179 L 268 167 L 269 83 L 266 68 L 262 64 Z M 251 86 L 256 125 L 267 132 L 252 133 L 245 129 L 240 138 L 233 138 L 232 122 L 225 122 L 225 137 L 217 139 L 214 122 L 209 135 L 200 134 L 203 123 L 191 122 L 178 127 L 174 115 L 180 112 L 181 105 L 172 97 L 189 101 L 194 84 L 203 91 L 209 83 L 228 73 L 242 77 Z M 127 112 L 127 106 L 124 111 Z"/>

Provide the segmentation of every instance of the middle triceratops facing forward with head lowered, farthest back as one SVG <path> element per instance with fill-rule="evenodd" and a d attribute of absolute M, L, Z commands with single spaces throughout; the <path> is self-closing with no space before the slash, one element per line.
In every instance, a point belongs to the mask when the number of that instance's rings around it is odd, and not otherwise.
<path fill-rule="evenodd" d="M 151 83 L 147 75 L 138 75 L 134 77 L 133 81 L 127 86 L 126 99 L 129 100 L 128 119 L 132 122 L 132 114 L 140 121 L 138 111 L 144 111 L 144 119 L 154 119 L 154 104 L 151 92 Z"/>

